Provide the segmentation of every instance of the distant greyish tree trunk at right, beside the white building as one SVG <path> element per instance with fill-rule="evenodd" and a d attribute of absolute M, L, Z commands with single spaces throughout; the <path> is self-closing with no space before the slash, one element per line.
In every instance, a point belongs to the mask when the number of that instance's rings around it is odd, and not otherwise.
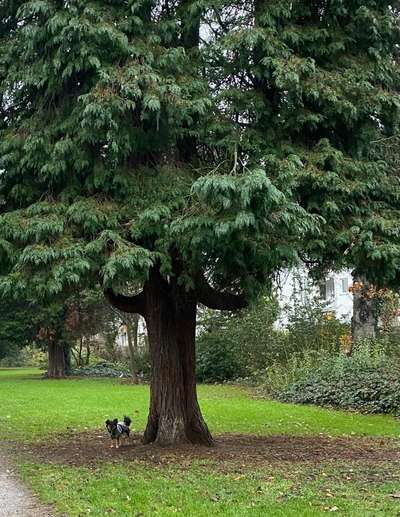
<path fill-rule="evenodd" d="M 351 320 L 353 343 L 376 338 L 378 322 L 371 288 L 365 277 L 354 276 Z"/>

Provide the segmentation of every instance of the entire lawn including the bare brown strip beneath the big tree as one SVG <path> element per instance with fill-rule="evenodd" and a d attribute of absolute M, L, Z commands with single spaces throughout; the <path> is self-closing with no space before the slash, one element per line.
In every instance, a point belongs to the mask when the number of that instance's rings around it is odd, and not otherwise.
<path fill-rule="evenodd" d="M 104 420 L 128 414 L 143 430 L 146 386 L 0 370 L 0 439 L 23 451 L 24 479 L 61 515 L 400 515 L 398 420 L 257 400 L 233 386 L 200 386 L 199 399 L 224 447 L 109 451 Z"/>

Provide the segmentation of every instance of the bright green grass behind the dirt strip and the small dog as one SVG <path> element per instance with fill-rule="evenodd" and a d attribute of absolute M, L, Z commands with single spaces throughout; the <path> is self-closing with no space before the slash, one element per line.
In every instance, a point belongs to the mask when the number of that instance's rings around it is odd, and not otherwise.
<path fill-rule="evenodd" d="M 400 437 L 398 420 L 311 406 L 257 400 L 235 386 L 199 386 L 203 414 L 214 433 Z M 106 418 L 134 417 L 144 428 L 148 387 L 109 379 L 42 380 L 35 370 L 0 370 L 0 439 L 26 441 L 67 428 L 103 426 Z"/>

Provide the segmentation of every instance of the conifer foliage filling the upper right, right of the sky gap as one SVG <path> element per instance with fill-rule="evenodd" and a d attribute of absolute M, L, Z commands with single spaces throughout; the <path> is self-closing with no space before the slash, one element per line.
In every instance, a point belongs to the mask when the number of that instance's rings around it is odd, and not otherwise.
<path fill-rule="evenodd" d="M 319 216 L 304 260 L 398 283 L 399 180 L 379 145 L 398 134 L 398 2 L 233 4 L 209 50 L 230 113 L 213 136 L 236 137 L 248 163 Z"/>

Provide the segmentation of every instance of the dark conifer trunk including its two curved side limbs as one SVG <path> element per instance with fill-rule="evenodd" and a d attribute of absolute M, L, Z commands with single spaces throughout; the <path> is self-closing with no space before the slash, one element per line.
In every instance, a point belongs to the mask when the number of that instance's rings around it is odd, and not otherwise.
<path fill-rule="evenodd" d="M 146 320 L 152 361 L 150 411 L 144 443 L 182 442 L 211 445 L 213 439 L 201 415 L 196 393 L 197 302 L 217 310 L 247 306 L 243 294 L 216 290 L 199 271 L 192 291 L 179 284 L 183 271 L 173 254 L 174 276 L 164 279 L 158 268 L 149 272 L 143 291 L 126 296 L 106 288 L 104 294 L 117 309 L 140 314 Z"/>

